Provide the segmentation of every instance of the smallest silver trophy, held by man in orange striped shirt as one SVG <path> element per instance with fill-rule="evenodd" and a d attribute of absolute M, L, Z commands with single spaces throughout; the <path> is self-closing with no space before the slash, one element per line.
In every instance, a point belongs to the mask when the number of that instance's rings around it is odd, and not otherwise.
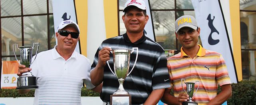
<path fill-rule="evenodd" d="M 183 80 L 184 80 L 184 83 L 187 85 L 187 92 L 183 88 L 183 83 L 182 83 Z M 199 87 L 199 84 L 200 84 L 199 81 L 196 81 L 196 82 L 198 82 L 198 87 Z M 181 79 L 182 89 L 187 95 L 189 95 L 189 100 L 186 102 L 183 102 L 182 105 L 197 105 L 196 102 L 192 101 L 192 97 L 196 93 L 196 92 L 194 92 L 194 85 L 196 84 L 196 82 L 195 83 L 186 82 L 185 79 Z M 197 87 L 196 91 L 198 90 L 198 87 Z"/>

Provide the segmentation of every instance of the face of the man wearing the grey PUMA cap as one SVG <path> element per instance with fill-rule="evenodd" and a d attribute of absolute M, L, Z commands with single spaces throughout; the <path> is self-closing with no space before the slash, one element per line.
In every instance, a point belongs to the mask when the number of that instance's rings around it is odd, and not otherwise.
<path fill-rule="evenodd" d="M 183 49 L 191 49 L 197 46 L 200 28 L 194 30 L 189 27 L 181 28 L 176 34 L 177 40 L 183 46 Z"/>

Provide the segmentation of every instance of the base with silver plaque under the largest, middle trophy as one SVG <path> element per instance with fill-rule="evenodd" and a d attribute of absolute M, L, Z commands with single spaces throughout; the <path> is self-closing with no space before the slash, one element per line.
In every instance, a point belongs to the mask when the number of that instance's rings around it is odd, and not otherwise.
<path fill-rule="evenodd" d="M 131 95 L 110 95 L 110 105 L 131 105 Z"/>

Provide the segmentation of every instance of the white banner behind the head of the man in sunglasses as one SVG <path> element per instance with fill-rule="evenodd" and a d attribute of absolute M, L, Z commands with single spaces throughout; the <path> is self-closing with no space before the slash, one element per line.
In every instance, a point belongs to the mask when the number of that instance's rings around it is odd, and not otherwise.
<path fill-rule="evenodd" d="M 72 20 L 77 23 L 75 15 L 75 4 L 73 0 L 52 0 L 52 10 L 54 14 L 54 31 L 57 32 L 60 22 L 64 20 Z M 57 39 L 56 39 L 57 45 Z M 75 51 L 80 53 L 79 42 L 75 47 Z"/>

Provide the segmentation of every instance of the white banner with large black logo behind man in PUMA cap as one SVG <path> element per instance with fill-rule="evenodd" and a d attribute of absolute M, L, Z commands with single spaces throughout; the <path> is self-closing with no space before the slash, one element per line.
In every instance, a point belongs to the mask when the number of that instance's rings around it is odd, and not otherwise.
<path fill-rule="evenodd" d="M 200 27 L 202 46 L 208 50 L 221 53 L 226 62 L 228 75 L 232 83 L 237 83 L 236 68 L 224 15 L 219 0 L 191 0 L 195 18 Z M 229 5 L 228 5 L 229 6 Z M 230 21 L 227 19 L 226 21 Z"/>

